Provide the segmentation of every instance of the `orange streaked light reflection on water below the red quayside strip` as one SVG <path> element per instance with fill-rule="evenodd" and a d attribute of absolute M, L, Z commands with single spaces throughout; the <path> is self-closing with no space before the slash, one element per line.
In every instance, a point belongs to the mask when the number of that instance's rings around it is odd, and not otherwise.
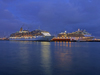
<path fill-rule="evenodd" d="M 66 74 L 69 74 L 72 69 L 71 42 L 55 42 L 54 55 L 56 59 L 55 61 L 57 62 L 55 64 L 55 68 L 57 69 L 57 71 L 66 71 Z M 63 75 L 64 72 L 62 72 L 61 74 Z"/>

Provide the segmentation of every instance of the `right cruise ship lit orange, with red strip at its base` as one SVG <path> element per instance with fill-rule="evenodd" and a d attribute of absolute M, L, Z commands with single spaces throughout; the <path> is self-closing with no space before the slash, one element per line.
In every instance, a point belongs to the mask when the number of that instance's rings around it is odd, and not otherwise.
<path fill-rule="evenodd" d="M 86 30 L 80 30 L 72 32 L 72 33 L 66 33 L 61 32 L 58 34 L 57 37 L 54 37 L 53 41 L 91 41 L 93 40 L 94 36 L 92 36 L 90 33 L 88 33 Z"/>

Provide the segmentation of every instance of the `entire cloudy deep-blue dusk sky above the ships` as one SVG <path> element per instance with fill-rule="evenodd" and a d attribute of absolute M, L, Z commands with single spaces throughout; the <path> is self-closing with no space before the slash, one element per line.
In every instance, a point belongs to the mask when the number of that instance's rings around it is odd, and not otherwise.
<path fill-rule="evenodd" d="M 0 0 L 0 37 L 23 29 L 85 29 L 100 37 L 100 0 Z"/>

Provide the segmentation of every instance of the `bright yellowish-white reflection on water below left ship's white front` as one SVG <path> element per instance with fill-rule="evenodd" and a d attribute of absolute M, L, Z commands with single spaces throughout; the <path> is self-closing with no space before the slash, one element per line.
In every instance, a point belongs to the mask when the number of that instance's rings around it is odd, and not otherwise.
<path fill-rule="evenodd" d="M 52 75 L 51 51 L 49 42 L 41 42 L 41 67 L 45 75 Z"/>

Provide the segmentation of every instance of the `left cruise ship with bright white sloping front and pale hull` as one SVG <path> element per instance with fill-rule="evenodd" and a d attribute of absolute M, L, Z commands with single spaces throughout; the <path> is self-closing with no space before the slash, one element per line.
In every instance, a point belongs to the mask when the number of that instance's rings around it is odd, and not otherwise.
<path fill-rule="evenodd" d="M 20 31 L 16 33 L 12 33 L 9 37 L 9 40 L 15 40 L 15 41 L 50 41 L 54 36 L 51 36 L 51 34 L 47 31 L 43 30 L 23 30 L 23 28 L 20 28 Z"/>

